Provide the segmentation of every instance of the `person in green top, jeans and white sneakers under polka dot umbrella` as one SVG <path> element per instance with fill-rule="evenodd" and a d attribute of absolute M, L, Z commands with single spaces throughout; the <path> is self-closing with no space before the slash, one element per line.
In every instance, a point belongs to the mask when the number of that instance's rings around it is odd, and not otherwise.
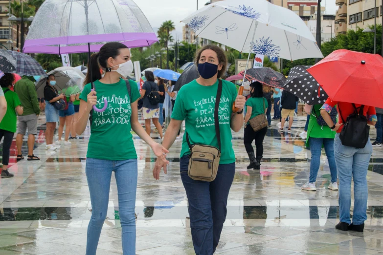
<path fill-rule="evenodd" d="M 305 183 L 301 189 L 306 191 L 316 191 L 315 181 L 320 166 L 320 155 L 323 146 L 331 173 L 331 184 L 328 186 L 328 189 L 337 191 L 337 165 L 334 154 L 334 139 L 337 132 L 331 130 L 331 128 L 327 125 L 319 125 L 316 121 L 316 119 L 321 116 L 321 107 L 322 105 L 305 105 L 305 111 L 310 115 L 306 146 L 309 147 L 311 151 L 311 163 L 309 181 Z"/>

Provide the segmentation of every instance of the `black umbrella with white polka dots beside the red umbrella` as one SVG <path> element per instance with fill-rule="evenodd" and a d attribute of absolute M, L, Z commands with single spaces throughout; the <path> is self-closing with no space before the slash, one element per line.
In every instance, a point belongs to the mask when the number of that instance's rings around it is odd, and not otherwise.
<path fill-rule="evenodd" d="M 319 88 L 318 82 L 309 72 L 307 72 L 307 69 L 310 67 L 310 65 L 294 66 L 290 70 L 283 89 L 294 94 L 306 104 L 324 104 L 328 95 L 322 88 Z"/>

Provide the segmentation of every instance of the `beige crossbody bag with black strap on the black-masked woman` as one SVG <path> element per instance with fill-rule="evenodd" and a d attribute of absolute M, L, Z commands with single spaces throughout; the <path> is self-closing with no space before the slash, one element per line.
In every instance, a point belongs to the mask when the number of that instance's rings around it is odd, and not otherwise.
<path fill-rule="evenodd" d="M 218 139 L 218 147 L 210 145 L 191 145 L 189 134 L 186 132 L 186 141 L 190 148 L 189 168 L 187 174 L 196 181 L 214 181 L 217 176 L 221 159 L 221 133 L 218 121 L 218 111 L 222 94 L 222 80 L 218 82 L 218 91 L 214 109 L 214 126 Z"/>

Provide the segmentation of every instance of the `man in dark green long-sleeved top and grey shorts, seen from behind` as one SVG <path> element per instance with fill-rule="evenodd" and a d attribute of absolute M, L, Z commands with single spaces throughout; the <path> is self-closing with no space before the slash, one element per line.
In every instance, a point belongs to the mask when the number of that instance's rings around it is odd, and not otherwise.
<path fill-rule="evenodd" d="M 15 92 L 24 108 L 23 115 L 19 116 L 19 127 L 16 136 L 17 161 L 24 159 L 22 146 L 26 129 L 28 129 L 28 160 L 40 160 L 39 157 L 33 154 L 35 135 L 37 135 L 37 121 L 40 115 L 36 86 L 29 79 L 23 78 L 15 84 Z"/>

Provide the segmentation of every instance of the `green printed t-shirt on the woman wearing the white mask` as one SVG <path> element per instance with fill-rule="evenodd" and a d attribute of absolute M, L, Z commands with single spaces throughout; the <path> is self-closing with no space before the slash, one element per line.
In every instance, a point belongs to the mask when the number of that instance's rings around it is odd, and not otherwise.
<path fill-rule="evenodd" d="M 97 91 L 97 108 L 104 106 L 104 98 L 108 107 L 104 112 L 93 111 L 90 126 L 90 139 L 88 144 L 88 158 L 107 160 L 136 159 L 133 136 L 131 134 L 131 103 L 140 97 L 137 85 L 129 80 L 132 100 L 126 89 L 124 80 L 115 84 L 103 84 L 98 80 L 94 82 Z M 87 101 L 90 93 L 90 84 L 85 85 L 80 99 Z"/>

